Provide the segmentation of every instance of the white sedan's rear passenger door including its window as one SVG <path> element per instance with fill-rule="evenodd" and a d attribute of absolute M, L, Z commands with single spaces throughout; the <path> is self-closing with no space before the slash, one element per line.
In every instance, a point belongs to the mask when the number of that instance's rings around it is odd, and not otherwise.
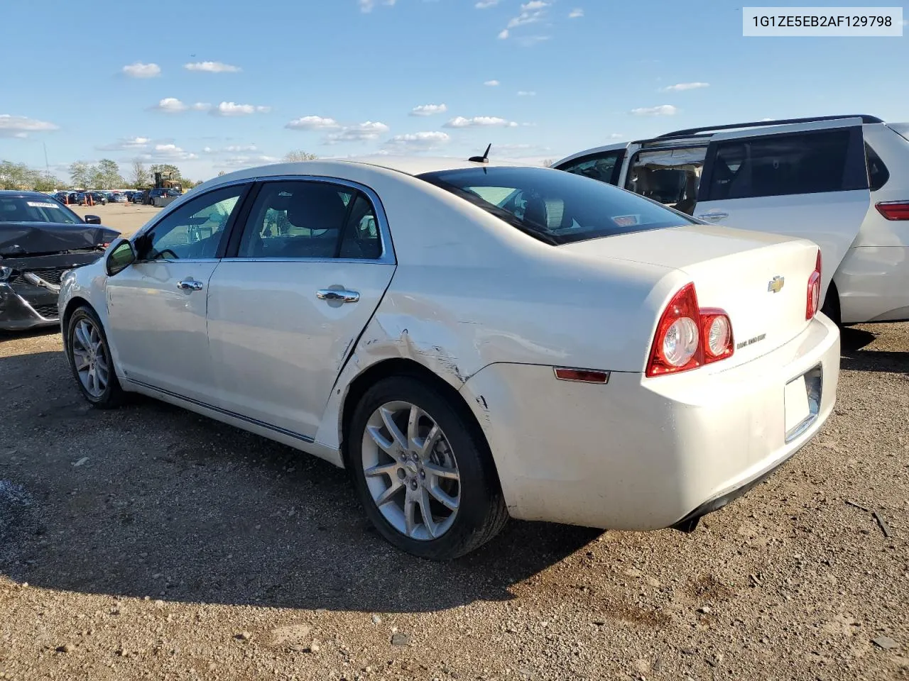
<path fill-rule="evenodd" d="M 209 284 L 218 406 L 313 439 L 395 271 L 381 204 L 339 180 L 262 183 Z"/>

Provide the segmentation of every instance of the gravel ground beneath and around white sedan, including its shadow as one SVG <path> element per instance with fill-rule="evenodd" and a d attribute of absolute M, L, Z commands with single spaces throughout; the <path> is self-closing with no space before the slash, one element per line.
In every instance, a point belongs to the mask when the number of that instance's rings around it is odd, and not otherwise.
<path fill-rule="evenodd" d="M 909 678 L 907 331 L 845 331 L 820 436 L 693 534 L 512 522 L 444 565 L 343 471 L 91 410 L 58 334 L 3 337 L 0 678 Z"/>

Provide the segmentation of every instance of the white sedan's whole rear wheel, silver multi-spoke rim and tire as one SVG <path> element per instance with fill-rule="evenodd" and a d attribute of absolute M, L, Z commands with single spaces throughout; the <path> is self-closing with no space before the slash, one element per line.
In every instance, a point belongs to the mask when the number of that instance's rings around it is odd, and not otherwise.
<path fill-rule="evenodd" d="M 504 527 L 508 511 L 482 435 L 421 380 L 376 383 L 348 435 L 347 465 L 366 515 L 395 547 L 448 560 Z"/>

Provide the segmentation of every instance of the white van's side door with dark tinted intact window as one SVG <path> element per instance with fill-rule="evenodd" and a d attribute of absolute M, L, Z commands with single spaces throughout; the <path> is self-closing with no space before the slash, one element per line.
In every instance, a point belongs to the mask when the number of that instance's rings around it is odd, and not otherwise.
<path fill-rule="evenodd" d="M 694 216 L 817 243 L 821 300 L 871 206 L 860 118 L 711 138 Z"/>

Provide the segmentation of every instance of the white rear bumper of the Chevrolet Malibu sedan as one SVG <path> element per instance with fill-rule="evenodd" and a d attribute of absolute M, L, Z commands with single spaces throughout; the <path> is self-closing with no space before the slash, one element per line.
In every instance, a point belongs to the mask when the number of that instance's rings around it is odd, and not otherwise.
<path fill-rule="evenodd" d="M 812 370 L 822 377 L 814 414 L 787 423 L 785 385 Z M 614 372 L 594 385 L 554 380 L 551 367 L 497 364 L 462 393 L 515 518 L 644 530 L 720 508 L 790 459 L 833 410 L 838 371 L 839 331 L 819 315 L 793 341 L 729 370 Z"/>

